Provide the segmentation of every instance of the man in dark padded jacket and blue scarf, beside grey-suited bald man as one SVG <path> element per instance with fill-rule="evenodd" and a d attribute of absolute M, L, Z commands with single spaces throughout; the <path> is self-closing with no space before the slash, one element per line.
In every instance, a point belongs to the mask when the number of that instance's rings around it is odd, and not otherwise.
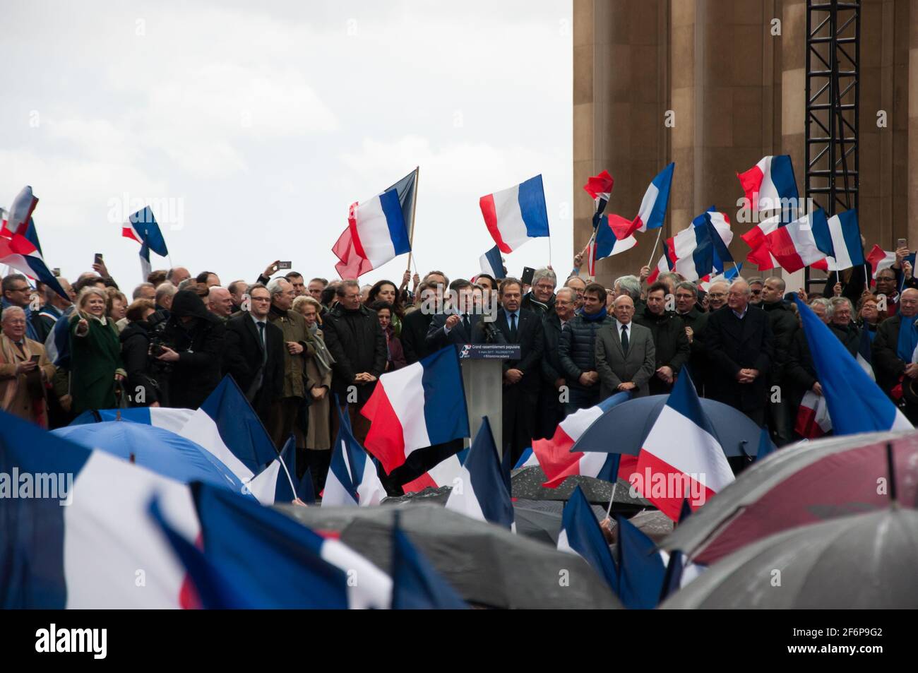
<path fill-rule="evenodd" d="M 558 340 L 558 359 L 569 388 L 567 413 L 599 404 L 596 332 L 610 322 L 613 320 L 606 312 L 606 288 L 590 283 L 583 290 L 583 308 L 567 322 Z"/>

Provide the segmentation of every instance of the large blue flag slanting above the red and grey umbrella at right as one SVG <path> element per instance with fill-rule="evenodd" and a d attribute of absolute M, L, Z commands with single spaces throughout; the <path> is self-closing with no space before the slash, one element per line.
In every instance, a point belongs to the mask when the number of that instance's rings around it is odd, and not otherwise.
<path fill-rule="evenodd" d="M 832 331 L 799 297 L 803 332 L 812 353 L 816 377 L 832 417 L 836 435 L 887 430 L 911 430 L 910 423 L 879 389 Z"/>

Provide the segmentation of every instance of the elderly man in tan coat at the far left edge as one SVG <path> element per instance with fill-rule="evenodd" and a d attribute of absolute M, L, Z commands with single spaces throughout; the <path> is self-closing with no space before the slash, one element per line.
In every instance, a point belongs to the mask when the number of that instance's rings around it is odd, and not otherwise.
<path fill-rule="evenodd" d="M 45 347 L 26 336 L 26 312 L 17 306 L 0 314 L 0 408 L 20 419 L 48 427 L 45 384 L 54 365 Z"/>

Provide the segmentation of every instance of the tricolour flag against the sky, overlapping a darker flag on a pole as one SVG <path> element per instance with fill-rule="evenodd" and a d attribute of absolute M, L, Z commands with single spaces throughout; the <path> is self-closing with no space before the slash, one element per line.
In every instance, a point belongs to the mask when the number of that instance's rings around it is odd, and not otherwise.
<path fill-rule="evenodd" d="M 389 189 L 362 204 L 354 203 L 348 214 L 348 228 L 331 252 L 340 260 L 335 270 L 341 278 L 357 278 L 403 252 L 411 252 L 397 189 Z"/>

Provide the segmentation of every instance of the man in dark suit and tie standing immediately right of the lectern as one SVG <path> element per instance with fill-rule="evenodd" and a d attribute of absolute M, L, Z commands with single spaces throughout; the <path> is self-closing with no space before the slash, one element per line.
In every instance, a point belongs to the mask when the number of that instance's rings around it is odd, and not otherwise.
<path fill-rule="evenodd" d="M 519 343 L 521 358 L 503 364 L 503 437 L 504 451 L 510 452 L 513 464 L 535 434 L 535 409 L 539 401 L 544 334 L 542 320 L 532 311 L 520 308 L 522 283 L 507 278 L 500 284 L 500 303 L 496 320 L 501 341 Z"/>

